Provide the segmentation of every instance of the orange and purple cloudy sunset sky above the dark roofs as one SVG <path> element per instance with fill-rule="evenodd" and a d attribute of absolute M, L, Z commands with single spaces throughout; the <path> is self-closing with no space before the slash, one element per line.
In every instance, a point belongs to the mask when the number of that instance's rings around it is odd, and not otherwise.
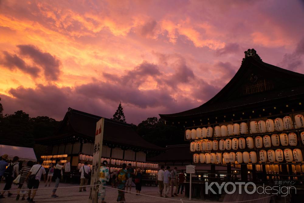
<path fill-rule="evenodd" d="M 126 121 L 202 105 L 254 48 L 304 74 L 303 1 L 0 1 L 4 113 Z"/>

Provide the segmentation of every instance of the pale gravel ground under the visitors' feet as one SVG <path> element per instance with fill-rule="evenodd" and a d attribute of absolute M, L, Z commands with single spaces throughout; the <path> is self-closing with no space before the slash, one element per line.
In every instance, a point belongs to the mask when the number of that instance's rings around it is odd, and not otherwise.
<path fill-rule="evenodd" d="M 60 183 L 59 187 L 71 187 L 71 186 L 77 186 L 77 185 L 71 185 L 71 184 L 64 184 Z M 54 187 L 54 182 L 51 184 L 51 187 Z M 4 183 L 0 183 L 0 189 L 2 190 L 4 188 Z M 39 188 L 45 188 L 44 184 L 41 183 Z M 17 189 L 15 185 L 12 186 L 12 190 Z M 89 188 L 87 188 L 89 190 Z M 114 189 L 107 188 L 106 189 L 106 196 L 105 196 L 105 201 L 107 203 L 112 203 L 116 202 L 117 199 L 117 191 Z M 135 187 L 132 187 L 132 192 L 135 192 Z M 147 194 L 147 195 L 152 195 L 152 196 L 158 196 L 157 194 L 157 187 L 142 187 L 141 193 Z M 21 201 L 21 198 L 19 201 L 16 201 L 16 191 L 12 192 L 13 195 L 11 197 L 7 197 L 7 192 L 5 193 L 5 198 L 0 199 L 0 202 L 27 202 Z M 36 203 L 54 203 L 54 202 L 77 202 L 77 203 L 87 203 L 88 202 L 88 195 L 89 192 L 78 192 L 78 188 L 65 188 L 65 189 L 58 189 L 56 194 L 59 196 L 57 198 L 51 198 L 51 190 L 38 190 L 36 193 L 36 197 L 34 198 L 34 201 Z M 179 195 L 178 197 L 174 198 L 166 198 L 166 199 L 160 199 L 160 198 L 153 198 L 153 197 L 147 197 L 143 195 L 136 196 L 135 194 L 130 194 L 126 193 L 126 202 L 145 202 L 145 203 L 152 203 L 152 202 L 178 202 L 178 201 L 173 201 L 172 199 L 177 199 L 177 200 L 189 200 L 189 198 L 186 198 L 184 195 Z M 27 198 L 27 196 L 26 196 Z M 202 201 L 198 199 L 193 199 L 192 201 Z M 207 200 L 204 200 L 205 202 Z M 101 202 L 99 200 L 98 202 Z M 181 202 L 181 201 L 180 201 Z M 211 202 L 211 201 L 210 201 Z M 214 201 L 213 201 L 214 202 Z"/>

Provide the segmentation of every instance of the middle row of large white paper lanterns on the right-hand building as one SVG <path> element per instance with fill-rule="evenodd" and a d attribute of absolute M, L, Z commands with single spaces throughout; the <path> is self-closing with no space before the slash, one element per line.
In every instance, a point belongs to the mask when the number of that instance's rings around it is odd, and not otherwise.
<path fill-rule="evenodd" d="M 301 132 L 301 140 L 304 144 L 304 132 Z M 262 148 L 263 144 L 265 148 L 269 148 L 272 146 L 279 146 L 281 143 L 282 146 L 297 146 L 297 135 L 294 132 L 289 133 L 288 135 L 286 133 L 273 134 L 271 136 L 265 135 L 263 137 L 256 136 L 255 137 L 255 146 L 256 148 Z M 198 140 L 195 142 L 190 143 L 190 151 L 210 151 L 210 150 L 237 150 L 237 149 L 245 149 L 245 147 L 249 149 L 254 148 L 254 141 L 252 137 L 247 137 L 246 139 L 241 137 L 239 139 L 233 138 L 233 139 L 221 139 L 221 140 Z"/>

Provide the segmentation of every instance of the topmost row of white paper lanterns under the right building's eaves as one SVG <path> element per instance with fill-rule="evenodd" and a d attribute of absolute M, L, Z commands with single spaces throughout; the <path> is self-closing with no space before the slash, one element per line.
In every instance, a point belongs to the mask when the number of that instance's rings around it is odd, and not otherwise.
<path fill-rule="evenodd" d="M 295 128 L 304 127 L 304 117 L 301 114 L 295 115 Z M 285 116 L 283 119 L 276 118 L 275 120 L 267 119 L 260 121 L 250 122 L 250 134 L 251 133 L 265 133 L 293 129 L 293 122 L 290 116 Z M 197 129 L 187 129 L 186 139 L 199 139 L 212 137 L 213 128 L 197 128 Z M 214 137 L 225 137 L 232 135 L 248 134 L 247 123 L 242 122 L 240 124 L 228 124 L 227 126 L 215 126 L 214 127 Z"/>

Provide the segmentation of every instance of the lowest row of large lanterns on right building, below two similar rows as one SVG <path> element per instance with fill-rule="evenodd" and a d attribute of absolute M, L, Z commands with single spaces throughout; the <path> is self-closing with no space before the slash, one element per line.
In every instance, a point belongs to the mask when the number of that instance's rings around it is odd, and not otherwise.
<path fill-rule="evenodd" d="M 287 162 L 302 162 L 303 156 L 300 149 L 285 149 L 284 152 L 281 149 L 268 150 L 261 150 L 259 152 L 260 161 L 262 163 L 267 162 L 267 158 L 269 162 L 282 162 L 283 158 Z M 284 156 L 284 157 L 283 157 Z M 225 152 L 223 153 L 200 153 L 200 154 L 193 154 L 193 162 L 194 163 L 216 163 L 216 164 L 226 164 L 226 163 L 257 163 L 257 153 L 255 151 L 249 152 Z"/>

